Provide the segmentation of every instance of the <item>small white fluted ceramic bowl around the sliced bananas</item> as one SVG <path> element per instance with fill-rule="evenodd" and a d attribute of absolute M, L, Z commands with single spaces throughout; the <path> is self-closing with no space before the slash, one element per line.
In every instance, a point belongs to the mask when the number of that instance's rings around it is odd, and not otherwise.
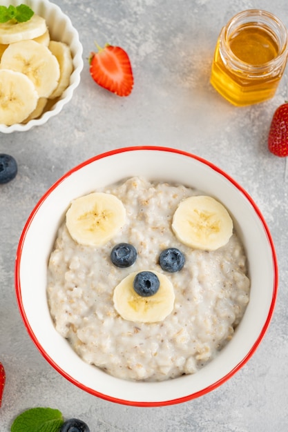
<path fill-rule="evenodd" d="M 38 119 L 28 121 L 27 124 L 13 124 L 12 126 L 0 124 L 0 132 L 3 133 L 30 130 L 33 126 L 40 126 L 46 123 L 46 121 L 48 121 L 51 117 L 59 114 L 64 105 L 70 101 L 75 88 L 77 88 L 79 85 L 81 70 L 84 66 L 82 59 L 83 47 L 79 41 L 78 32 L 73 27 L 70 18 L 68 18 L 67 15 L 61 11 L 59 6 L 55 5 L 55 3 L 51 3 L 48 0 L 1 1 L 2 6 L 9 6 L 10 4 L 13 6 L 18 6 L 21 3 L 25 3 L 35 12 L 35 14 L 38 14 L 46 19 L 51 39 L 62 41 L 70 46 L 74 70 L 70 77 L 70 85 L 49 110 L 45 111 L 44 114 Z"/>

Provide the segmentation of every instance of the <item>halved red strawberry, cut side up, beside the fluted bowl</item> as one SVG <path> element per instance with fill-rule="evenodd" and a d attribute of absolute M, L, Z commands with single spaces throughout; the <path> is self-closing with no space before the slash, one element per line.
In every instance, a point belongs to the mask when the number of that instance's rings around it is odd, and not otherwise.
<path fill-rule="evenodd" d="M 106 45 L 89 57 L 94 81 L 118 96 L 130 95 L 134 79 L 127 53 L 119 46 Z"/>

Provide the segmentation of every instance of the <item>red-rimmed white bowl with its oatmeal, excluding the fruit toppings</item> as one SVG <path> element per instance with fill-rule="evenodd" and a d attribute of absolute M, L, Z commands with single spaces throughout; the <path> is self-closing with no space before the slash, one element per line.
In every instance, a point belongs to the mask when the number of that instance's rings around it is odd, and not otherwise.
<path fill-rule="evenodd" d="M 100 246 L 79 244 L 66 213 L 95 192 L 122 202 L 125 223 Z M 172 229 L 176 208 L 194 195 L 220 202 L 233 222 L 228 242 L 213 251 L 183 244 Z M 137 250 L 125 268 L 111 262 L 122 242 Z M 175 272 L 159 261 L 171 247 L 185 257 Z M 169 281 L 172 300 L 169 292 L 160 303 L 169 297 L 171 308 L 164 317 L 153 312 L 155 322 L 142 319 L 146 311 L 123 317 L 129 301 L 120 295 L 118 307 L 115 288 L 147 270 Z M 191 400 L 236 373 L 265 335 L 277 281 L 271 235 L 253 199 L 209 161 L 156 146 L 97 155 L 61 177 L 28 218 L 16 259 L 19 310 L 46 360 L 84 391 L 135 406 Z"/>

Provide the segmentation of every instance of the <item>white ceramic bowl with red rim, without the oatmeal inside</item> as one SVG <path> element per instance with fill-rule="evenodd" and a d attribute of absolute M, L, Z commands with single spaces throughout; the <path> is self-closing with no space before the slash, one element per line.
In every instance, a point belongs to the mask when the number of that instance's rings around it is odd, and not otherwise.
<path fill-rule="evenodd" d="M 246 249 L 251 298 L 231 342 L 194 375 L 165 382 L 128 382 L 83 362 L 57 333 L 46 300 L 46 271 L 57 228 L 70 201 L 126 177 L 177 182 L 198 188 L 229 209 Z M 213 164 L 180 150 L 132 147 L 93 157 L 61 177 L 41 198 L 23 229 L 16 259 L 19 310 L 39 351 L 61 375 L 106 400 L 160 406 L 193 399 L 228 380 L 260 344 L 276 302 L 276 253 L 267 224 L 251 197 Z"/>

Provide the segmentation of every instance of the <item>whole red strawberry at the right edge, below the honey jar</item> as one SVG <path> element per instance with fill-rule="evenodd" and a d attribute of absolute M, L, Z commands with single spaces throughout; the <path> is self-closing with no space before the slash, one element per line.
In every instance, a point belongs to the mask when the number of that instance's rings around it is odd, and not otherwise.
<path fill-rule="evenodd" d="M 279 106 L 273 115 L 268 148 L 276 156 L 288 156 L 288 103 Z"/>

